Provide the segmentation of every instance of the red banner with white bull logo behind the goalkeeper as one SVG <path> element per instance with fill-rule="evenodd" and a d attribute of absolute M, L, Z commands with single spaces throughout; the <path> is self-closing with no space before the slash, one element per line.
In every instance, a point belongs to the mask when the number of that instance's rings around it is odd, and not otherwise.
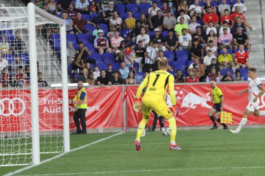
<path fill-rule="evenodd" d="M 248 88 L 248 83 L 218 83 L 225 98 L 224 111 L 233 114 L 233 124 L 238 124 L 241 120 L 245 107 L 248 105 L 248 93 L 241 96 L 238 93 Z M 137 86 L 128 86 L 127 94 L 127 115 L 128 127 L 137 127 L 142 120 L 142 113 L 135 113 L 132 104 L 135 99 Z M 176 118 L 178 126 L 204 126 L 212 125 L 208 112 L 213 106 L 211 104 L 210 84 L 175 85 L 176 105 L 179 108 L 179 115 Z M 264 110 L 264 95 L 261 97 L 259 109 Z M 167 105 L 172 107 L 169 95 L 167 95 Z M 148 125 L 153 123 L 153 114 Z M 265 124 L 265 117 L 255 117 L 250 115 L 248 125 Z M 158 125 L 159 126 L 159 125 Z"/>

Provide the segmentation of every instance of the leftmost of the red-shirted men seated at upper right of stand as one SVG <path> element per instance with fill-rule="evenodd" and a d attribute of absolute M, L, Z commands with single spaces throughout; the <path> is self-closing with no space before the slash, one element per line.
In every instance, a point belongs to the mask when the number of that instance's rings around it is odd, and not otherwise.
<path fill-rule="evenodd" d="M 204 32 L 209 27 L 209 22 L 213 22 L 213 26 L 215 26 L 217 31 L 220 29 L 220 25 L 218 24 L 219 17 L 216 13 L 213 13 L 213 8 L 211 7 L 208 8 L 208 13 L 204 14 L 202 22 L 204 22 Z"/>

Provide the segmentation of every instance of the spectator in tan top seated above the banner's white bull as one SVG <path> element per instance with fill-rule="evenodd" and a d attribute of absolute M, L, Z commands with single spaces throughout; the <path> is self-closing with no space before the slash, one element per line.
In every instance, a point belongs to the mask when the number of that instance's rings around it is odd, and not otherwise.
<path fill-rule="evenodd" d="M 191 63 L 188 67 L 188 72 L 193 72 L 195 74 L 195 77 L 199 79 L 199 81 L 203 81 L 204 79 L 204 65 L 202 63 L 199 63 L 199 58 L 194 59 L 194 63 Z"/>

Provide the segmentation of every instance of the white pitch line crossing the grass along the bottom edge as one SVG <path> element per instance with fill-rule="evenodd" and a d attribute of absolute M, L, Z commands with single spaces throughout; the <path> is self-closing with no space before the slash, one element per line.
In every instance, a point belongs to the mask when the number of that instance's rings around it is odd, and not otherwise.
<path fill-rule="evenodd" d="M 153 173 L 160 171 L 181 171 L 181 170 L 238 170 L 238 169 L 264 169 L 265 166 L 250 166 L 250 167 L 231 167 L 231 168 L 172 168 L 172 169 L 153 169 L 153 170 L 121 170 L 121 171 L 106 171 L 92 173 L 59 173 L 59 174 L 39 174 L 30 176 L 50 176 L 50 175 L 97 175 L 97 174 L 119 174 L 119 173 Z M 20 175 L 26 176 L 26 175 Z M 29 175 L 27 175 L 29 176 Z"/>

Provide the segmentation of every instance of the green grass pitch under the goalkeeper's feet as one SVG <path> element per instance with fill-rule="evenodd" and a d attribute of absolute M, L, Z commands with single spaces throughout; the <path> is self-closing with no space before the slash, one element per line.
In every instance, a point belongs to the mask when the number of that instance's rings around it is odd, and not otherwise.
<path fill-rule="evenodd" d="M 127 132 L 70 152 L 17 175 L 265 175 L 265 129 L 178 131 L 182 151 L 169 150 L 169 136 L 146 132 L 142 151 L 135 150 L 136 132 Z M 70 136 L 71 149 L 113 134 Z M 41 160 L 56 154 L 41 155 Z M 0 175 L 20 167 L 0 167 Z"/>

